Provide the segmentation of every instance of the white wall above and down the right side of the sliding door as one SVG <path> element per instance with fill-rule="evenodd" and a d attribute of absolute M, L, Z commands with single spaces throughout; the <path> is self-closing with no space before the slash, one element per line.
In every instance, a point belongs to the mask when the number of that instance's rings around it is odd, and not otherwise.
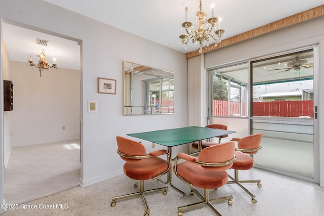
<path fill-rule="evenodd" d="M 324 17 L 316 18 L 307 22 L 300 23 L 285 29 L 281 29 L 263 36 L 252 38 L 238 44 L 221 48 L 213 52 L 205 54 L 205 68 L 211 68 L 223 64 L 242 61 L 246 59 L 259 58 L 265 55 L 271 55 L 278 52 L 284 52 L 292 49 L 302 48 L 318 44 L 318 58 L 319 58 L 319 74 L 318 79 L 314 80 L 315 87 L 318 83 L 324 82 L 323 73 L 324 61 L 320 61 L 324 56 Z M 318 85 L 318 93 L 324 91 L 323 85 Z M 318 98 L 318 120 L 315 124 L 318 128 L 324 127 L 324 120 L 321 119 L 321 112 L 324 112 L 324 98 Z M 248 121 L 242 127 L 249 127 Z M 319 136 L 319 182 L 320 186 L 324 187 L 324 137 L 320 131 L 315 131 L 315 135 Z M 315 155 L 316 156 L 316 155 Z"/>

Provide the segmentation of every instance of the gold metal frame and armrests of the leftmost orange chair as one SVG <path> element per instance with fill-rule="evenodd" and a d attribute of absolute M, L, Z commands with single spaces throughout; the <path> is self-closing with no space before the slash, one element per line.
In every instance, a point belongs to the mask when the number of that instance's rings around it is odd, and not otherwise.
<path fill-rule="evenodd" d="M 117 136 L 117 139 L 118 139 L 118 136 Z M 127 138 L 122 138 L 122 137 L 120 137 L 120 139 L 126 139 L 126 140 L 131 141 L 131 142 L 136 142 L 136 141 L 132 141 L 132 140 L 127 139 Z M 139 142 L 136 142 L 136 143 L 139 143 Z M 144 147 L 144 149 L 145 149 L 145 147 Z M 139 160 L 142 160 L 142 159 L 145 160 L 145 159 L 148 159 L 148 158 L 156 158 L 156 157 L 161 156 L 161 155 L 167 155 L 168 161 L 170 160 L 170 155 L 167 152 L 167 150 L 157 150 L 157 151 L 150 152 L 149 154 L 145 154 L 145 155 L 130 155 L 130 154 L 125 154 L 123 152 L 120 152 L 117 149 L 117 153 L 120 155 L 120 157 L 122 159 L 124 159 L 124 160 L 127 161 L 126 163 L 132 163 L 132 162 L 139 161 Z M 161 159 L 161 158 L 159 158 L 159 159 Z M 168 163 L 168 168 L 166 170 L 164 170 L 163 172 L 161 172 L 161 173 L 153 176 L 151 178 L 152 180 L 155 180 L 155 179 L 157 179 L 157 178 L 159 178 L 159 177 L 161 177 L 161 176 L 163 176 L 163 175 L 165 175 L 165 174 L 168 173 L 168 171 L 170 170 L 170 164 L 169 164 L 168 161 L 166 161 L 166 163 Z M 147 166 L 150 166 L 150 164 L 147 164 Z M 124 172 L 125 172 L 125 165 L 124 165 Z M 136 183 L 134 185 L 134 187 L 137 187 L 137 186 L 138 185 Z M 145 195 L 144 194 L 162 191 L 163 194 L 166 195 L 167 194 L 167 190 L 168 190 L 168 187 L 156 188 L 156 189 L 151 189 L 151 190 L 144 190 L 144 180 L 143 179 L 140 179 L 139 180 L 139 192 L 135 192 L 135 193 L 131 193 L 131 194 L 125 194 L 125 195 L 121 195 L 121 196 L 112 197 L 111 198 L 111 200 L 112 200 L 111 201 L 111 206 L 115 206 L 117 200 L 126 199 L 126 198 L 130 198 L 130 197 L 133 197 L 133 196 L 140 195 L 142 197 L 142 200 L 143 200 L 143 202 L 145 204 L 145 207 L 146 207 L 146 210 L 144 212 L 144 216 L 149 216 L 150 208 L 149 208 L 149 206 L 147 204 L 147 201 L 146 201 L 146 198 L 145 198 Z"/>

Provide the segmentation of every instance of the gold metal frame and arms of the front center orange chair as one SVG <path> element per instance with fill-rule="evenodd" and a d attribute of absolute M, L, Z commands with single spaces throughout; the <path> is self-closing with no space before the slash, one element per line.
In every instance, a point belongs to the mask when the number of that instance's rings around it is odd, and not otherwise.
<path fill-rule="evenodd" d="M 232 151 L 231 159 L 226 160 L 226 161 L 222 161 L 222 162 L 205 162 L 205 161 L 199 161 L 198 160 L 199 156 L 198 156 L 198 159 L 197 159 L 194 156 L 191 156 L 191 155 L 188 155 L 188 154 L 185 154 L 185 153 L 178 153 L 178 155 L 176 156 L 176 158 L 175 158 L 175 166 L 174 166 L 174 171 L 175 171 L 176 176 L 181 181 L 183 181 L 184 183 L 186 183 L 190 187 L 192 195 L 193 195 L 193 193 L 195 193 L 201 200 L 203 200 L 201 202 L 197 202 L 197 203 L 193 203 L 193 204 L 178 207 L 178 215 L 179 216 L 182 215 L 182 211 L 189 210 L 189 209 L 192 209 L 192 208 L 195 208 L 195 207 L 198 207 L 198 206 L 201 206 L 201 205 L 205 205 L 205 204 L 207 204 L 207 206 L 209 206 L 216 215 L 221 215 L 218 212 L 218 210 L 212 205 L 212 203 L 223 201 L 223 200 L 228 200 L 228 204 L 232 205 L 233 196 L 229 195 L 229 196 L 219 197 L 219 198 L 215 198 L 215 199 L 210 199 L 209 190 L 212 189 L 212 188 L 204 188 L 204 195 L 202 195 L 194 188 L 194 187 L 196 187 L 196 186 L 193 185 L 194 183 L 189 182 L 187 179 L 185 179 L 185 177 L 180 176 L 179 173 L 178 173 L 178 166 L 179 166 L 178 159 L 181 158 L 181 159 L 184 159 L 184 160 L 192 163 L 192 165 L 196 164 L 196 165 L 199 165 L 199 166 L 203 167 L 203 169 L 209 170 L 210 172 L 214 172 L 214 174 L 216 174 L 216 175 L 218 175 L 217 172 L 220 175 L 223 175 L 223 171 L 225 170 L 225 176 L 224 176 L 225 183 L 223 183 L 221 186 L 225 185 L 226 181 L 228 179 L 226 169 L 230 168 L 232 163 L 236 160 L 235 155 L 234 155 L 234 142 L 230 141 L 230 142 L 227 142 L 227 143 L 211 146 L 211 147 L 208 147 L 208 148 L 205 148 L 205 149 L 201 150 L 201 152 L 208 151 L 208 150 L 210 150 L 211 148 L 214 148 L 214 147 L 220 147 L 221 145 L 232 145 L 232 150 L 233 151 Z M 199 154 L 201 154 L 201 152 Z M 217 158 L 217 151 L 212 152 L 212 154 L 210 154 L 210 155 L 213 155 L 213 157 L 215 156 Z M 186 163 L 186 162 L 183 162 L 183 163 Z M 181 163 L 180 163 L 180 165 L 181 165 Z M 217 170 L 214 170 L 213 167 L 214 168 L 218 167 L 218 168 L 217 168 Z M 209 169 L 209 168 L 212 168 L 212 169 Z M 221 187 L 221 186 L 219 186 L 219 187 Z M 215 189 L 215 188 L 213 188 L 213 189 Z"/>

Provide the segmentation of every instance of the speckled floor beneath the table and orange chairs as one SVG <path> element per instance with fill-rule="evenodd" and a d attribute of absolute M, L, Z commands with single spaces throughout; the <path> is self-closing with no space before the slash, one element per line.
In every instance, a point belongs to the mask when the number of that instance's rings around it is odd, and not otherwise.
<path fill-rule="evenodd" d="M 324 212 L 324 188 L 317 184 L 257 168 L 240 171 L 240 177 L 261 179 L 261 188 L 258 188 L 256 183 L 245 184 L 256 195 L 257 203 L 252 203 L 251 197 L 237 185 L 225 185 L 210 191 L 211 198 L 233 195 L 232 206 L 228 205 L 227 201 L 214 203 L 222 215 L 322 215 Z M 84 188 L 72 188 L 25 203 L 17 209 L 8 209 L 2 215 L 144 215 L 145 208 L 140 197 L 118 200 L 115 206 L 110 206 L 112 196 L 137 191 L 134 183 L 134 180 L 120 175 Z M 173 184 L 187 195 L 182 196 L 170 185 L 167 195 L 161 192 L 147 194 L 150 216 L 178 215 L 177 206 L 200 201 L 196 195 L 191 196 L 188 186 L 175 176 Z M 148 180 L 145 186 L 145 189 L 150 189 L 164 187 L 165 184 Z M 23 209 L 24 206 L 27 209 Z M 35 208 L 30 209 L 32 206 Z M 184 211 L 183 215 L 200 216 L 214 213 L 204 206 Z"/>

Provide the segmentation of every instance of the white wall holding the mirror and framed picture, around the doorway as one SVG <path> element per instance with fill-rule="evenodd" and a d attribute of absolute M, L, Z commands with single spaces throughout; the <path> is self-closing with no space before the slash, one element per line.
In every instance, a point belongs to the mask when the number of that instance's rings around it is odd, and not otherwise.
<path fill-rule="evenodd" d="M 185 54 L 39 0 L 3 1 L 0 17 L 82 40 L 80 185 L 123 174 L 124 162 L 116 154 L 117 135 L 188 125 Z M 123 60 L 175 72 L 175 114 L 123 116 Z M 98 77 L 116 79 L 116 95 L 98 94 Z M 97 113 L 87 112 L 88 100 L 97 101 Z M 151 143 L 143 143 L 151 150 Z"/>

